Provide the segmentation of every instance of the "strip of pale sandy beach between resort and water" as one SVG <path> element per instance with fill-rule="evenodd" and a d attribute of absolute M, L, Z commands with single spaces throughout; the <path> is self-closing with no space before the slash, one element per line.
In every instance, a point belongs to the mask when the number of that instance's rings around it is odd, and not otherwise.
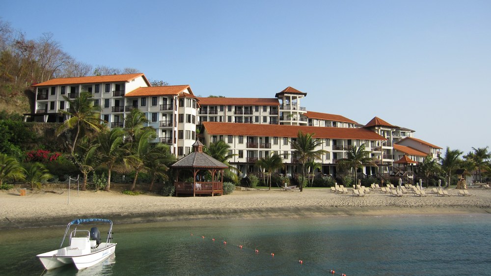
<path fill-rule="evenodd" d="M 431 189 L 430 189 L 431 190 Z M 64 225 L 75 218 L 101 217 L 115 223 L 199 219 L 304 218 L 316 216 L 390 216 L 433 214 L 491 214 L 491 190 L 469 189 L 472 196 L 395 197 L 374 192 L 365 197 L 331 193 L 328 189 L 303 192 L 235 191 L 222 196 L 164 197 L 155 193 L 121 193 L 66 189 L 0 191 L 0 229 Z M 429 193 L 429 192 L 428 192 Z"/>

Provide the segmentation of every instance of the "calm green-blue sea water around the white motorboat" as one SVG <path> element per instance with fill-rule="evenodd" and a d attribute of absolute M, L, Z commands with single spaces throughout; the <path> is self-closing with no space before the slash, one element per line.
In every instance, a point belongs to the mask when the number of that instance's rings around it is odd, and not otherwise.
<path fill-rule="evenodd" d="M 491 275 L 490 230 L 490 215 L 116 224 L 113 258 L 44 275 Z M 41 275 L 63 233 L 1 231 L 0 275 Z"/>

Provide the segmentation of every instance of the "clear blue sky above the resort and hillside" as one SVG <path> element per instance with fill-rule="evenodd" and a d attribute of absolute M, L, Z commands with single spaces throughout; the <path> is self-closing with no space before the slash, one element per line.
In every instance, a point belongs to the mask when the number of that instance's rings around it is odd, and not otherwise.
<path fill-rule="evenodd" d="M 378 116 L 445 151 L 491 146 L 491 1 L 3 0 L 0 19 L 93 66 L 195 95 Z"/>

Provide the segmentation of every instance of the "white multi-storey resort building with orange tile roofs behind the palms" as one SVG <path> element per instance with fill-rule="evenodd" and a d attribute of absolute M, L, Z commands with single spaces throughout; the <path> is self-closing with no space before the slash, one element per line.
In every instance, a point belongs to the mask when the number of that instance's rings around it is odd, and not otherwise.
<path fill-rule="evenodd" d="M 323 142 L 327 154 L 318 160 L 319 173 L 333 176 L 337 161 L 352 146 L 365 144 L 377 160 L 378 166 L 358 171 L 375 177 L 398 173 L 400 164 L 413 166 L 428 154 L 436 159 L 441 149 L 414 138 L 413 130 L 378 117 L 363 125 L 341 115 L 307 111 L 300 105 L 307 93 L 290 86 L 274 98 L 196 97 L 189 85 L 151 86 L 144 74 L 137 73 L 52 79 L 33 87 L 35 110 L 25 114 L 26 120 L 62 122 L 67 118 L 59 110 L 70 108 L 63 96 L 73 99 L 90 92 L 110 128 L 124 127 L 124 116 L 136 108 L 156 129 L 158 138 L 153 142 L 168 144 L 178 159 L 189 154 L 198 139 L 205 145 L 223 140 L 236 154 L 230 164 L 243 172 L 257 171 L 258 159 L 276 153 L 285 164 L 281 173 L 296 173 L 299 161 L 290 142 L 299 131 L 313 133 Z"/>

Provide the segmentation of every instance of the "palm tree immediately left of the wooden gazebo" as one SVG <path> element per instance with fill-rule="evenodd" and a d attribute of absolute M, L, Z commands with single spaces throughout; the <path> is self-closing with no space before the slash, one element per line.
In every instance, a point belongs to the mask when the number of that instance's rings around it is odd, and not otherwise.
<path fill-rule="evenodd" d="M 151 176 L 149 192 L 152 192 L 153 184 L 158 176 L 167 179 L 165 172 L 176 161 L 176 157 L 170 152 L 169 146 L 166 144 L 158 143 L 152 150 L 158 151 L 160 154 L 158 158 L 145 158 L 143 161 Z"/>

